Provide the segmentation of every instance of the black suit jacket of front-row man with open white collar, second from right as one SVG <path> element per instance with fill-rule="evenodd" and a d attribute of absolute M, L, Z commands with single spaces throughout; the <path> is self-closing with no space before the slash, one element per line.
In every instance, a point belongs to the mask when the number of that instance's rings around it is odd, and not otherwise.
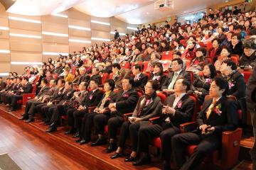
<path fill-rule="evenodd" d="M 173 106 L 175 98 L 175 94 L 170 95 L 166 99 L 166 105 Z M 174 109 L 176 111 L 174 115 L 161 114 L 160 116 L 162 121 L 165 121 L 166 118 L 169 117 L 171 125 L 174 125 L 176 128 L 179 128 L 182 123 L 190 122 L 195 109 L 195 102 L 187 94 L 185 94 L 178 102 L 181 102 L 181 106 L 178 106 L 178 104 L 175 106 Z"/>

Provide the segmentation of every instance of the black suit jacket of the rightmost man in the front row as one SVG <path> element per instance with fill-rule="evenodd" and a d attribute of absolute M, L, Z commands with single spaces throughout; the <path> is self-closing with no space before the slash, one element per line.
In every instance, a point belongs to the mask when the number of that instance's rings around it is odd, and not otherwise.
<path fill-rule="evenodd" d="M 221 97 L 215 106 L 220 106 L 221 113 L 215 113 L 214 109 L 211 111 L 209 118 L 206 118 L 208 107 L 213 102 L 213 99 L 208 99 L 203 103 L 201 112 L 198 113 L 196 122 L 198 128 L 201 125 L 210 125 L 215 128 L 214 133 L 220 135 L 225 130 L 235 130 L 238 127 L 238 106 L 233 99 Z M 215 107 L 214 106 L 214 107 Z"/>

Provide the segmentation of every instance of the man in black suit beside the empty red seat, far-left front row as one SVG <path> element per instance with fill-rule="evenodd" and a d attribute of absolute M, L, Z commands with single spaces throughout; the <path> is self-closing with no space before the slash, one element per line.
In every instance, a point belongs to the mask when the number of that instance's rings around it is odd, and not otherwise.
<path fill-rule="evenodd" d="M 33 90 L 32 84 L 28 82 L 28 77 L 23 77 L 21 84 L 23 84 L 23 87 L 20 88 L 14 96 L 11 96 L 11 107 L 9 109 L 10 111 L 15 111 L 17 106 L 17 101 L 22 99 L 22 94 L 31 94 Z"/>

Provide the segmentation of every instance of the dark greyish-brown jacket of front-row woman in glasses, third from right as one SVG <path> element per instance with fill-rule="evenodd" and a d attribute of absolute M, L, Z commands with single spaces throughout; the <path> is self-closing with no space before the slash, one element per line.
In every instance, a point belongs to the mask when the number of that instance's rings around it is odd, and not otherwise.
<path fill-rule="evenodd" d="M 139 101 L 137 102 L 137 106 L 134 109 L 134 112 L 132 114 L 133 117 L 137 117 L 138 111 L 142 108 L 142 105 L 144 103 L 144 101 L 142 100 L 145 100 L 145 96 L 141 96 L 139 98 Z M 139 118 L 141 118 L 142 121 L 149 120 L 149 118 L 154 118 L 157 115 L 159 115 L 161 108 L 162 108 L 161 99 L 158 96 L 156 96 L 152 98 L 151 103 L 144 106 Z"/>

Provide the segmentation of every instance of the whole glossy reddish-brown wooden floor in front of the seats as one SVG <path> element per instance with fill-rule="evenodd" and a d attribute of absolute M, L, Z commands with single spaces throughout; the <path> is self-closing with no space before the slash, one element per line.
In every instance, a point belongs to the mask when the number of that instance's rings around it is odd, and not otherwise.
<path fill-rule="evenodd" d="M 64 135 L 64 128 L 48 134 L 39 120 L 23 123 L 18 120 L 23 108 L 11 113 L 0 106 L 0 154 L 9 153 L 21 169 L 161 169 L 161 162 L 154 157 L 146 166 L 134 167 L 124 158 L 110 159 L 102 151 L 107 146 L 90 147 L 74 142 L 70 135 Z M 215 168 L 207 168 L 215 169 Z M 240 162 L 234 170 L 252 169 L 251 162 Z"/>

